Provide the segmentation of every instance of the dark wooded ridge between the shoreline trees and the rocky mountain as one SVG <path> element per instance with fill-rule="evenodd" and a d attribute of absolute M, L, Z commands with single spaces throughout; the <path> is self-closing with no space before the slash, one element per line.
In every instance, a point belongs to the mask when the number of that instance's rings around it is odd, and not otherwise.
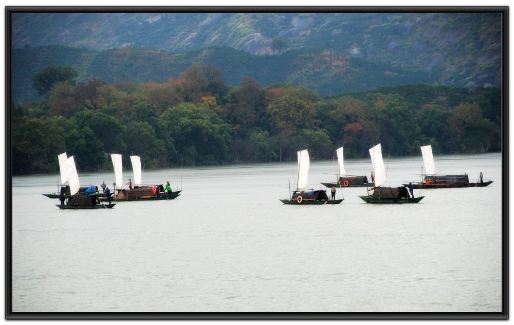
<path fill-rule="evenodd" d="M 32 76 L 50 65 L 66 65 L 79 72 L 79 81 L 98 78 L 108 83 L 167 82 L 192 64 L 221 68 L 222 79 L 241 85 L 251 77 L 261 85 L 289 82 L 321 96 L 340 92 L 437 81 L 440 75 L 409 71 L 342 55 L 332 50 L 300 49 L 263 57 L 229 47 L 209 47 L 187 53 L 148 49 L 111 49 L 101 52 L 63 46 L 15 49 L 13 100 L 16 105 L 38 99 Z"/>

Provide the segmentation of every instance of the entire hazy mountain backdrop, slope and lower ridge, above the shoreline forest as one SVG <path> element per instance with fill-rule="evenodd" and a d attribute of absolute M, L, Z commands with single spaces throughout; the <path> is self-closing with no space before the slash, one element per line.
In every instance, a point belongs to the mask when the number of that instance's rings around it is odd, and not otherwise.
<path fill-rule="evenodd" d="M 468 13 L 14 13 L 13 97 L 69 65 L 79 81 L 165 82 L 191 64 L 238 85 L 291 82 L 329 95 L 407 83 L 500 87 L 502 16 Z"/>

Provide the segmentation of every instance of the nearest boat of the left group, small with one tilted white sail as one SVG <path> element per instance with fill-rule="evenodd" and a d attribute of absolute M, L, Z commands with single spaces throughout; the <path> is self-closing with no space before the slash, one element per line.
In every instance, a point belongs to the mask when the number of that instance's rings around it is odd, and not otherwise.
<path fill-rule="evenodd" d="M 63 161 L 60 165 L 61 172 L 64 169 L 67 182 L 69 183 L 69 195 L 61 196 L 61 204 L 56 204 L 59 209 L 111 209 L 116 204 L 103 204 L 96 192 L 90 194 L 77 194 L 79 191 L 79 175 L 75 167 L 73 156 Z M 64 178 L 63 178 L 64 179 Z"/>

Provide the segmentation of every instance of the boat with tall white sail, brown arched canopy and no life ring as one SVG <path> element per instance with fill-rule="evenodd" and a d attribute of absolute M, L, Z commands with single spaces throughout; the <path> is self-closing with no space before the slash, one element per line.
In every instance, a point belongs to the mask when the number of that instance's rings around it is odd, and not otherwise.
<path fill-rule="evenodd" d="M 359 197 L 366 203 L 406 204 L 418 203 L 425 196 L 412 197 L 405 186 L 382 187 L 386 183 L 386 168 L 382 159 L 382 146 L 380 143 L 370 149 L 373 164 L 374 186 L 368 190 L 368 195 Z"/>

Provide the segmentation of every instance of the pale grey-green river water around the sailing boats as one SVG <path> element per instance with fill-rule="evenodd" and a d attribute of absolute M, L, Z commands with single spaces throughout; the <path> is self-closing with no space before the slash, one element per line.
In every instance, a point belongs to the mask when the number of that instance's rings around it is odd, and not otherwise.
<path fill-rule="evenodd" d="M 421 157 L 384 164 L 386 186 L 420 180 Z M 365 204 L 365 188 L 344 188 L 340 205 L 287 206 L 296 162 L 143 170 L 143 183 L 182 194 L 88 211 L 41 195 L 58 174 L 13 177 L 12 311 L 501 312 L 501 154 L 435 164 L 494 183 L 414 190 L 419 204 Z M 371 161 L 345 169 L 370 176 Z M 309 185 L 335 173 L 334 161 L 311 161 Z"/>

